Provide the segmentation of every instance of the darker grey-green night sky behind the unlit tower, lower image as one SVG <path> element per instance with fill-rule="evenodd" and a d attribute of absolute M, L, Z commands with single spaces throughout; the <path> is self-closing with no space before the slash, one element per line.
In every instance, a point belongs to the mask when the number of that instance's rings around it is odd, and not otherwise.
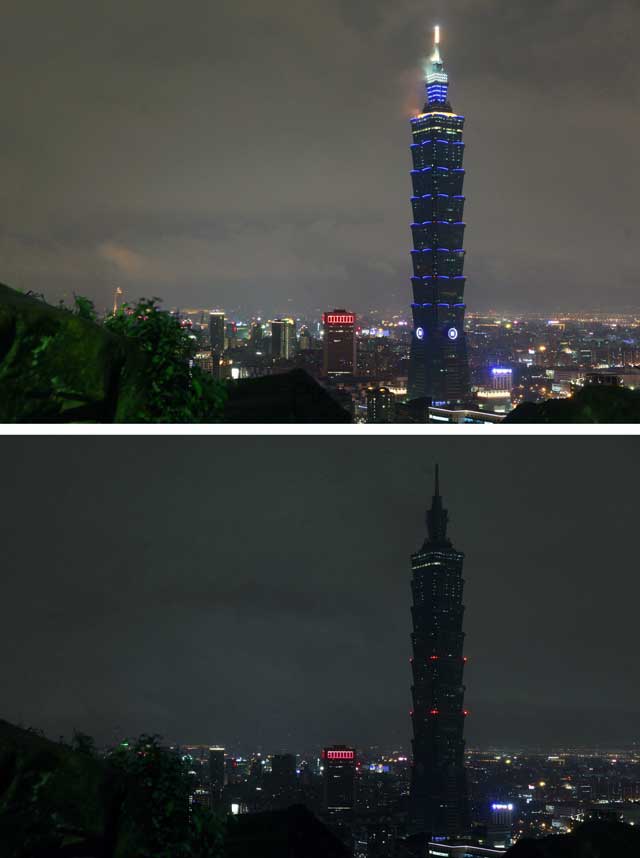
<path fill-rule="evenodd" d="M 469 742 L 637 740 L 638 443 L 5 437 L 0 717 L 101 742 L 406 742 L 438 461 Z"/>

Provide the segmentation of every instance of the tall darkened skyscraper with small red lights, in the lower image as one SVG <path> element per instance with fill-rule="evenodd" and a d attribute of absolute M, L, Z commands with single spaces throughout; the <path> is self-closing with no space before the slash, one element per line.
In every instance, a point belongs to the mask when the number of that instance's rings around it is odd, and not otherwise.
<path fill-rule="evenodd" d="M 457 837 L 468 828 L 464 769 L 462 564 L 464 554 L 447 537 L 436 466 L 435 493 L 427 512 L 427 538 L 412 555 L 413 570 L 413 768 L 412 829 L 432 837 Z"/>

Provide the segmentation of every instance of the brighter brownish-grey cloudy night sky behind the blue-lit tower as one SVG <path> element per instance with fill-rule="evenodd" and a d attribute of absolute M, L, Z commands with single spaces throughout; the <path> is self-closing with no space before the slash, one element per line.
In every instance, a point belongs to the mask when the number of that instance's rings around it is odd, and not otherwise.
<path fill-rule="evenodd" d="M 404 312 L 436 23 L 469 310 L 637 308 L 637 0 L 5 0 L 0 281 Z"/>

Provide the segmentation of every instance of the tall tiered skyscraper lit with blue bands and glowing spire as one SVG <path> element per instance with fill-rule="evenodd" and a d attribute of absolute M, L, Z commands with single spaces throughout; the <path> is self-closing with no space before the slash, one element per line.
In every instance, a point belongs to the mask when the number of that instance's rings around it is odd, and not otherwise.
<path fill-rule="evenodd" d="M 449 104 L 436 27 L 427 101 L 411 120 L 413 336 L 409 397 L 460 405 L 469 396 L 464 333 L 464 116 Z"/>

